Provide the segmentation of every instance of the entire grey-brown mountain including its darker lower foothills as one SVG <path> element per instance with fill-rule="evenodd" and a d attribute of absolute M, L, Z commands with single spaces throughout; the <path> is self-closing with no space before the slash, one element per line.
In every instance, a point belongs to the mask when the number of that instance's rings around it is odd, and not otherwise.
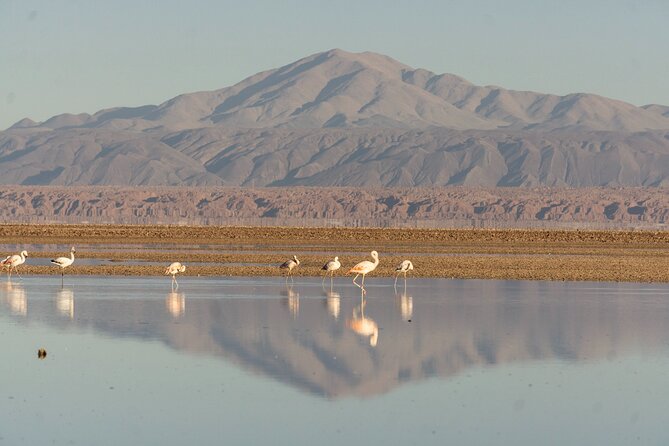
<path fill-rule="evenodd" d="M 660 186 L 669 107 L 331 50 L 160 105 L 24 119 L 0 132 L 0 182 Z"/>

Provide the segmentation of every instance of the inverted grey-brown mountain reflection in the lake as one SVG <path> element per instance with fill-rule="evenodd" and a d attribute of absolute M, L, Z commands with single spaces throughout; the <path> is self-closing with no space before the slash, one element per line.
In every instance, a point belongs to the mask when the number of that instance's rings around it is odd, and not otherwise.
<path fill-rule="evenodd" d="M 296 284 L 272 288 L 265 298 L 199 296 L 189 299 L 188 311 L 183 293 L 83 299 L 77 292 L 74 318 L 72 289 L 49 291 L 55 308 L 50 299 L 31 300 L 28 312 L 23 286 L 3 282 L 0 315 L 159 340 L 329 398 L 380 394 L 472 367 L 612 360 L 664 351 L 669 340 L 663 296 L 616 293 L 615 285 L 598 292 L 540 283 L 509 290 L 491 281 L 472 292 L 457 281 L 446 282 L 447 290 L 435 283 L 412 295 L 370 288 L 364 299 L 350 286 L 336 292 Z"/>

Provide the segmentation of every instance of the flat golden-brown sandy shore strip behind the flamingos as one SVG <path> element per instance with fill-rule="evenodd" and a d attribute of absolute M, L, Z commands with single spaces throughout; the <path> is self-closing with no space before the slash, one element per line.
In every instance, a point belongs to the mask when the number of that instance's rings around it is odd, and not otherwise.
<path fill-rule="evenodd" d="M 294 253 L 302 262 L 296 276 L 319 276 L 335 255 L 343 276 L 374 249 L 381 262 L 370 277 L 393 276 L 395 265 L 409 258 L 413 277 L 669 282 L 667 231 L 3 225 L 0 245 L 29 250 L 21 267 L 28 275 L 60 274 L 31 260 L 64 255 L 63 246 L 74 245 L 78 259 L 105 264 L 75 261 L 67 274 L 161 275 L 168 263 L 181 261 L 185 275 L 277 276 L 278 265 Z"/>

